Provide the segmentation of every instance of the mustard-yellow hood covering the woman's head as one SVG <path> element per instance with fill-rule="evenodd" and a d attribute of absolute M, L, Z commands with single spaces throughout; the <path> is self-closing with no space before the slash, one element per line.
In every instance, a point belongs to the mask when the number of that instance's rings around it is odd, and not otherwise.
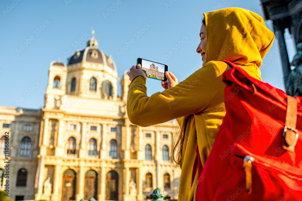
<path fill-rule="evenodd" d="M 207 34 L 206 61 L 229 60 L 256 73 L 275 35 L 258 14 L 243 8 L 224 8 L 204 13 Z"/>

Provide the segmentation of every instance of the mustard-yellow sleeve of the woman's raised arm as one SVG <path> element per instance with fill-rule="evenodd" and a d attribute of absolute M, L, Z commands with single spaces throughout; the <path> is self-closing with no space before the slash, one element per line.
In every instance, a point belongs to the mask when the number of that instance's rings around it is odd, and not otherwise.
<path fill-rule="evenodd" d="M 200 112 L 216 96 L 221 80 L 220 67 L 210 61 L 176 86 L 148 97 L 146 80 L 138 76 L 128 91 L 129 120 L 146 127 Z"/>

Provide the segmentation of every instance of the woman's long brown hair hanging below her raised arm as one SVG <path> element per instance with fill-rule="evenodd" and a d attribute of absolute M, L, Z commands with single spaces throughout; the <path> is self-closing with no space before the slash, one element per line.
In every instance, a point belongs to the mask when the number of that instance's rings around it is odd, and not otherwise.
<path fill-rule="evenodd" d="M 206 25 L 206 21 L 202 19 L 202 24 Z M 178 121 L 181 122 L 178 130 L 175 132 L 173 139 L 173 148 L 171 157 L 176 163 L 176 167 L 182 168 L 182 149 L 185 141 L 185 132 L 188 124 L 189 115 L 180 118 Z"/>

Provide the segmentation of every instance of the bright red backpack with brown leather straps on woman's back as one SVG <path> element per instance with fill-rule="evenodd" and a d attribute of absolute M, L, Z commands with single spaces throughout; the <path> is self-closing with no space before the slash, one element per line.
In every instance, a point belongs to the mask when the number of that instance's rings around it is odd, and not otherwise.
<path fill-rule="evenodd" d="M 302 97 L 224 62 L 233 67 L 223 74 L 226 116 L 196 200 L 302 200 Z"/>

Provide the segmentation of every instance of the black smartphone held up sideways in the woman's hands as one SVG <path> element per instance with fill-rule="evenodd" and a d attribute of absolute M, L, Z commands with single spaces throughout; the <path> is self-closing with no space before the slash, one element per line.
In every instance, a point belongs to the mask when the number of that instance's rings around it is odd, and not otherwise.
<path fill-rule="evenodd" d="M 168 71 L 167 65 L 142 58 L 137 58 L 137 65 L 138 64 L 142 66 L 142 70 L 146 74 L 146 77 L 150 77 L 155 80 L 167 81 L 165 76 L 165 72 Z"/>

